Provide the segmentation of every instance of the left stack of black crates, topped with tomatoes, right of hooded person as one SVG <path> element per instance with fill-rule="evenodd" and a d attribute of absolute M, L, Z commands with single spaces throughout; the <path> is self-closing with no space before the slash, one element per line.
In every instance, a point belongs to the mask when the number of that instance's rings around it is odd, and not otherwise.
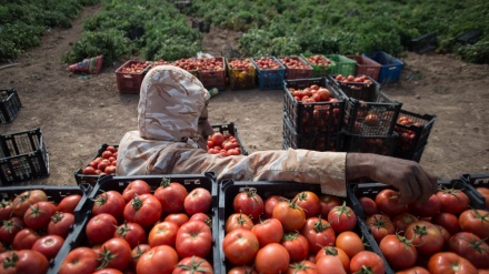
<path fill-rule="evenodd" d="M 313 88 L 312 88 L 313 87 Z M 329 101 L 305 102 L 297 92 L 328 89 Z M 283 109 L 283 149 L 341 151 L 345 101 L 328 78 L 286 80 Z"/>

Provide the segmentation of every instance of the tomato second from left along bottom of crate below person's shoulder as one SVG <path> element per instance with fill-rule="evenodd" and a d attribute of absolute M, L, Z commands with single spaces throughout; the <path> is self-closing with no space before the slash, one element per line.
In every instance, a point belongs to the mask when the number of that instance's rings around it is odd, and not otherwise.
<path fill-rule="evenodd" d="M 102 246 L 102 254 L 100 254 L 100 268 L 117 268 L 126 270 L 131 263 L 131 246 L 121 237 L 112 237 L 106 241 Z"/>

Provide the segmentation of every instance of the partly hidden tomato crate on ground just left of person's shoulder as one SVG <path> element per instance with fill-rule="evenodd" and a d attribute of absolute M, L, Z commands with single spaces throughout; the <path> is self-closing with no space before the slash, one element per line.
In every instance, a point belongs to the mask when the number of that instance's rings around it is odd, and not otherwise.
<path fill-rule="evenodd" d="M 84 168 L 74 171 L 77 184 L 94 185 L 101 175 L 116 174 L 118 148 L 118 144 L 102 144 Z"/>

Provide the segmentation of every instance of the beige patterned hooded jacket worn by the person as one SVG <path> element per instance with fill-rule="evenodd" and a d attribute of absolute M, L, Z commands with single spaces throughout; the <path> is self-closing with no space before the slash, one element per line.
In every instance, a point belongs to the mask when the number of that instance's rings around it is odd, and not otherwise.
<path fill-rule="evenodd" d="M 346 153 L 289 149 L 220 156 L 199 149 L 198 120 L 207 100 L 208 91 L 189 72 L 151 69 L 141 84 L 139 130 L 119 143 L 117 175 L 214 172 L 218 181 L 315 183 L 322 193 L 346 196 Z"/>

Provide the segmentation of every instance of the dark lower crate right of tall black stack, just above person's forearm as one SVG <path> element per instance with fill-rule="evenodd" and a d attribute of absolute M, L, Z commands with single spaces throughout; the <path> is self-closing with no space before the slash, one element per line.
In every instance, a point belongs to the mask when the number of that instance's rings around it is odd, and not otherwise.
<path fill-rule="evenodd" d="M 391 156 L 396 150 L 398 134 L 366 136 L 345 133 L 345 152 L 375 153 Z"/>

